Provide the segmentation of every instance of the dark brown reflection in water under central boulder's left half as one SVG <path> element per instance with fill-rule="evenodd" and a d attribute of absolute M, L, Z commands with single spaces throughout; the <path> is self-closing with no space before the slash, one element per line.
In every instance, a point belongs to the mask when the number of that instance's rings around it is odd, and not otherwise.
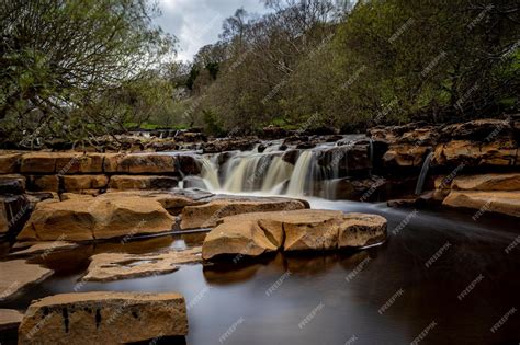
<path fill-rule="evenodd" d="M 234 263 L 234 260 L 236 263 Z M 204 266 L 203 274 L 207 284 L 231 285 L 252 278 L 258 269 L 273 261 L 273 255 L 262 255 L 255 260 L 246 256 L 230 256 L 223 262 Z"/>

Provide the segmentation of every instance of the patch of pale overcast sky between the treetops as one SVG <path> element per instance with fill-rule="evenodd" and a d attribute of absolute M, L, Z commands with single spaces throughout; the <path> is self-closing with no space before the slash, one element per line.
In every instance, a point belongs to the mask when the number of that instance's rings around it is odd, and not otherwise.
<path fill-rule="evenodd" d="M 259 0 L 159 0 L 159 7 L 162 15 L 156 22 L 179 39 L 179 60 L 191 60 L 199 48 L 215 43 L 223 21 L 236 9 L 265 13 Z"/>

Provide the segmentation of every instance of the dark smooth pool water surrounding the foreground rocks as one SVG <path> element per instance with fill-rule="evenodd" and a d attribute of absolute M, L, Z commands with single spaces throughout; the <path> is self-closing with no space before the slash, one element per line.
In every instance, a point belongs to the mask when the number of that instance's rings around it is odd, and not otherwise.
<path fill-rule="evenodd" d="M 163 276 L 78 286 L 92 253 L 192 246 L 204 234 L 83 246 L 49 255 L 45 264 L 57 273 L 0 308 L 24 309 L 75 287 L 179 291 L 189 306 L 188 344 L 519 344 L 520 244 L 511 245 L 518 220 L 350 202 L 312 206 L 380 214 L 388 241 L 361 252 L 184 265 Z"/>

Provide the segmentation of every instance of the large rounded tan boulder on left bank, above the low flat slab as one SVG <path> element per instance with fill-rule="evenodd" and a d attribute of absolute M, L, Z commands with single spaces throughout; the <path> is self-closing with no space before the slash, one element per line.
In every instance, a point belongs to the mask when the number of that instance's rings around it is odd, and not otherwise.
<path fill-rule="evenodd" d="M 170 231 L 174 218 L 152 198 L 114 197 L 39 203 L 18 240 L 86 241 Z"/>

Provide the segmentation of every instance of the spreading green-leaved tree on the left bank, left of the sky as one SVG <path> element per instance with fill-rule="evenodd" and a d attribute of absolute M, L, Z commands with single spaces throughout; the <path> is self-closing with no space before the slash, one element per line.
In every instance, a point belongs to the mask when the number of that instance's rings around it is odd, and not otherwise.
<path fill-rule="evenodd" d="M 110 133 L 121 120 L 89 107 L 173 51 L 146 0 L 7 0 L 0 13 L 0 120 L 12 137 Z"/>

